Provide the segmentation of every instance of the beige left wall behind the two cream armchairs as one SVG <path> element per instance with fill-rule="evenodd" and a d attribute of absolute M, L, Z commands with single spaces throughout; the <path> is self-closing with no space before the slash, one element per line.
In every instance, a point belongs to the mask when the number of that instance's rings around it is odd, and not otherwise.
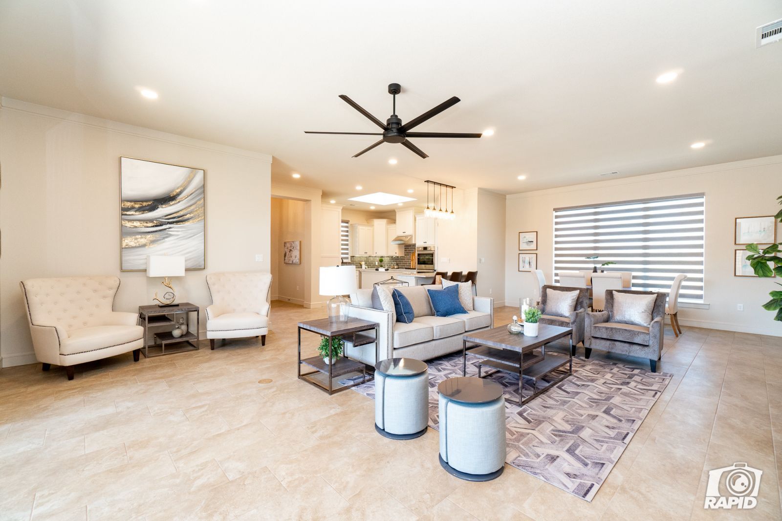
<path fill-rule="evenodd" d="M 206 270 L 174 279 L 210 304 L 211 271 L 269 271 L 271 156 L 3 99 L 0 109 L 0 356 L 35 361 L 19 282 L 117 275 L 115 309 L 152 304 L 160 279 L 120 271 L 120 156 L 206 170 Z M 255 255 L 264 256 L 262 262 Z"/>

